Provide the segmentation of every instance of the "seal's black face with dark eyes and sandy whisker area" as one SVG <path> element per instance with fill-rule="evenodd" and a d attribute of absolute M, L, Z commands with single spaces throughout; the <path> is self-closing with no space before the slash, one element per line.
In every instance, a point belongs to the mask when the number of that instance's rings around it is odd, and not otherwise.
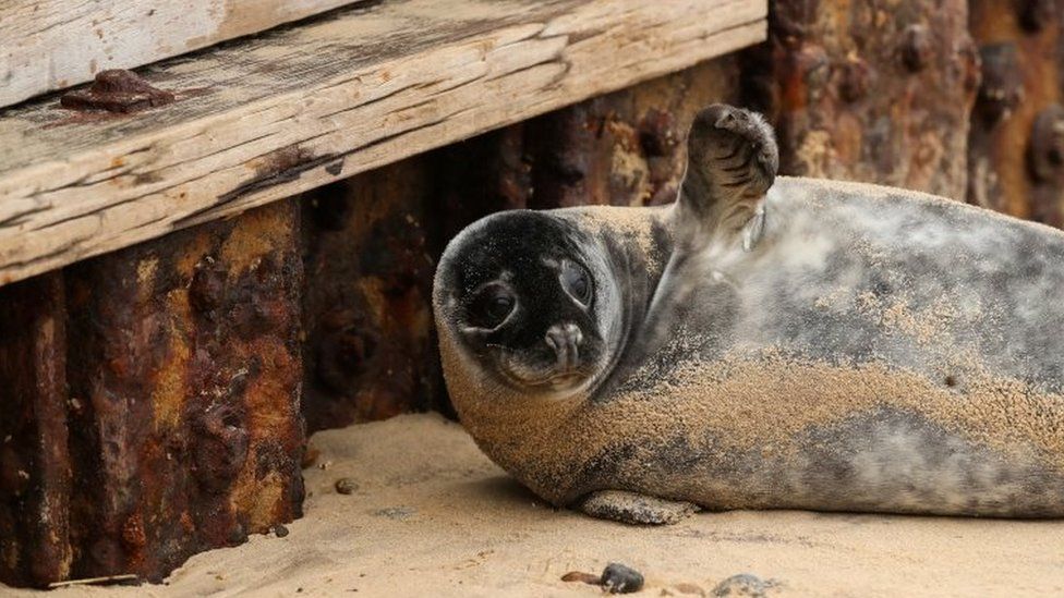
<path fill-rule="evenodd" d="M 436 288 L 462 353 L 499 383 L 570 394 L 607 365 L 615 284 L 602 252 L 565 220 L 523 210 L 482 220 L 452 242 Z"/>

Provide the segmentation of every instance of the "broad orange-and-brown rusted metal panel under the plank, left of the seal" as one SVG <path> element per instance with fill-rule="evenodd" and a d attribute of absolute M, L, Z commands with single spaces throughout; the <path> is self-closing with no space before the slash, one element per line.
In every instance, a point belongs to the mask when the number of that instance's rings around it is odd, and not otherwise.
<path fill-rule="evenodd" d="M 159 581 L 300 514 L 293 203 L 68 269 L 76 577 Z"/>

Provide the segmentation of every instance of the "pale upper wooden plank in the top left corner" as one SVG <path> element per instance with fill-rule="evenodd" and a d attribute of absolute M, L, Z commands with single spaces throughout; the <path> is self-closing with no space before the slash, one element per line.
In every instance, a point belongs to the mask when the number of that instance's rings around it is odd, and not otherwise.
<path fill-rule="evenodd" d="M 0 107 L 362 0 L 5 0 Z"/>

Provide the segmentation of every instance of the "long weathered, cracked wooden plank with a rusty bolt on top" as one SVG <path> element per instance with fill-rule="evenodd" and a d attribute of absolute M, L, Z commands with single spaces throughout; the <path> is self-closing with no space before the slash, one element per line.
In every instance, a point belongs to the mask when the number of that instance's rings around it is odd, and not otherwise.
<path fill-rule="evenodd" d="M 764 38 L 750 0 L 394 0 L 150 69 L 134 115 L 0 119 L 0 283 Z"/>

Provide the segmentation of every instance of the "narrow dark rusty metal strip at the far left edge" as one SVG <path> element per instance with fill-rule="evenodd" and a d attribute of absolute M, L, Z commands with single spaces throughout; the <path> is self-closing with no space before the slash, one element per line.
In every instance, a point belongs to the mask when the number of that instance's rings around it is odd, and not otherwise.
<path fill-rule="evenodd" d="M 62 276 L 0 290 L 0 581 L 70 572 Z"/>

